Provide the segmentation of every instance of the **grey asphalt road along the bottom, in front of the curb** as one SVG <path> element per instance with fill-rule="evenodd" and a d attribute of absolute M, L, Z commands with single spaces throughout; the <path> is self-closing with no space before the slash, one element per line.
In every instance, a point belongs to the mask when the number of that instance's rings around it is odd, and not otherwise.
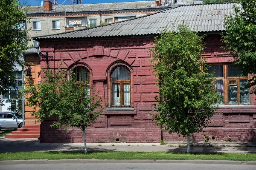
<path fill-rule="evenodd" d="M 228 164 L 151 164 L 151 163 L 84 163 L 84 164 L 16 164 L 0 165 L 0 170 L 255 170 L 255 165 Z"/>

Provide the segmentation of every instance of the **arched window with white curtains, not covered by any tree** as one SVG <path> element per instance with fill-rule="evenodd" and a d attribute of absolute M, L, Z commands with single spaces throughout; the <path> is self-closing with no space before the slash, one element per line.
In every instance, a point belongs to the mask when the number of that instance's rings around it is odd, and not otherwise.
<path fill-rule="evenodd" d="M 131 72 L 126 65 L 117 64 L 110 72 L 111 107 L 131 106 Z"/>

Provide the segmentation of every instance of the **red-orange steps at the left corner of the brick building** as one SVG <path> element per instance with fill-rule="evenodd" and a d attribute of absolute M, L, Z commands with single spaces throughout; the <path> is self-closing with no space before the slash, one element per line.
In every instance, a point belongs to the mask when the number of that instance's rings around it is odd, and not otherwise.
<path fill-rule="evenodd" d="M 18 128 L 17 131 L 12 131 L 7 134 L 6 138 L 21 139 L 21 138 L 38 138 L 40 136 L 40 125 L 24 125 L 23 128 Z"/>

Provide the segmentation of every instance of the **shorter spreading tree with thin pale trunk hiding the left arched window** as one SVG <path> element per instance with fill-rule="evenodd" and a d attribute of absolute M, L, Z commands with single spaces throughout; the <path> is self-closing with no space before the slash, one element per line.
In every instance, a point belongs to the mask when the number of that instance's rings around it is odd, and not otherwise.
<path fill-rule="evenodd" d="M 66 79 L 67 71 L 60 68 L 52 71 L 44 70 L 41 84 L 26 86 L 26 105 L 33 107 L 32 115 L 39 121 L 44 121 L 51 116 L 57 116 L 51 127 L 77 127 L 84 133 L 84 153 L 87 153 L 85 129 L 94 123 L 102 113 L 102 99 L 90 96 L 87 82 L 75 79 Z"/>

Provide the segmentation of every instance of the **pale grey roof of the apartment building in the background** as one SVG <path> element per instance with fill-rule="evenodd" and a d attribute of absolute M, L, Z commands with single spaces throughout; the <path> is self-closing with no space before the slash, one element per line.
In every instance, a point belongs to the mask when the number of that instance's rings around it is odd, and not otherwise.
<path fill-rule="evenodd" d="M 172 2 L 172 0 L 169 0 Z M 169 2 L 169 3 L 170 3 Z M 202 0 L 177 0 L 175 4 L 168 5 L 191 5 L 202 3 Z M 134 2 L 119 2 L 119 3 L 85 3 L 74 5 L 53 5 L 52 11 L 49 12 L 79 12 L 79 11 L 108 11 L 108 10 L 122 10 L 122 9 L 138 9 L 138 8 L 152 8 L 156 7 L 154 0 L 134 1 Z M 157 7 L 156 7 L 157 8 Z M 30 6 L 27 13 L 42 13 L 44 6 Z"/>

